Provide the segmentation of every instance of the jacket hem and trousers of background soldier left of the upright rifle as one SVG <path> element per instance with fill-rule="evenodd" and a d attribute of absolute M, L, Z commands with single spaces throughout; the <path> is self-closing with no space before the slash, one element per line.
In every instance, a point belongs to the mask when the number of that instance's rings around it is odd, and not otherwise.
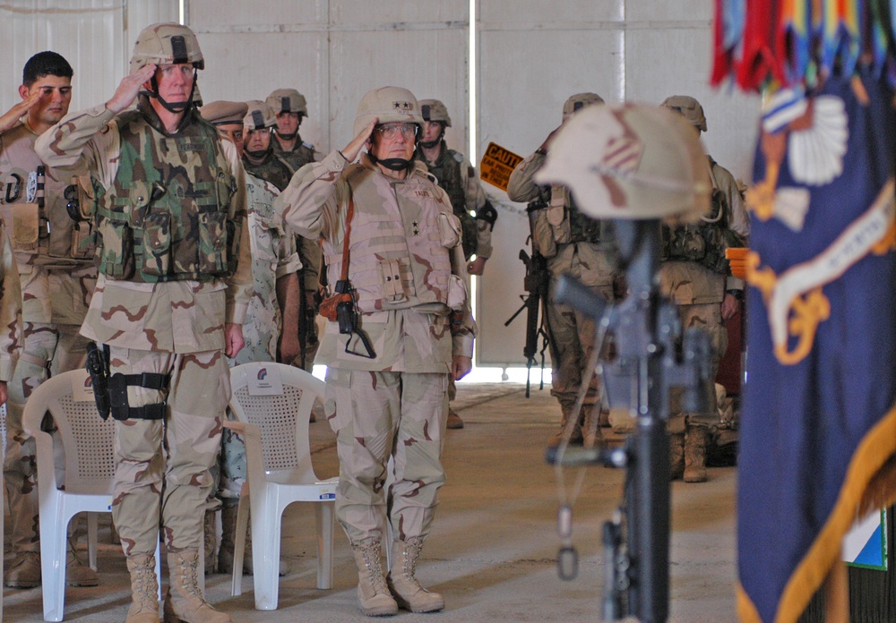
<path fill-rule="evenodd" d="M 595 326 L 579 311 L 554 303 L 556 280 L 564 273 L 591 286 L 607 301 L 613 300 L 613 278 L 603 252 L 588 243 L 564 244 L 550 263 L 551 299 L 547 305 L 548 339 L 551 353 L 551 396 L 561 407 L 572 409 L 586 376 L 588 362 L 594 352 Z M 585 394 L 583 411 L 587 414 L 599 400 L 599 380 L 591 377 Z"/>

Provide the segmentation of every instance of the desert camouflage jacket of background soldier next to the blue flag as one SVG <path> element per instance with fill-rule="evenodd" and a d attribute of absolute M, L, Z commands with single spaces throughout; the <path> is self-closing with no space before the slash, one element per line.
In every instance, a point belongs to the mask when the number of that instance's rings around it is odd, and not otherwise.
<path fill-rule="evenodd" d="M 707 158 L 714 180 L 713 190 L 721 192 L 722 203 L 729 210 L 724 218 L 727 219 L 729 228 L 746 240 L 750 226 L 737 181 L 726 168 L 719 166 L 712 158 Z M 664 261 L 659 267 L 659 279 L 662 293 L 679 305 L 721 303 L 726 291 L 744 287 L 737 277 L 721 275 L 697 261 Z"/>

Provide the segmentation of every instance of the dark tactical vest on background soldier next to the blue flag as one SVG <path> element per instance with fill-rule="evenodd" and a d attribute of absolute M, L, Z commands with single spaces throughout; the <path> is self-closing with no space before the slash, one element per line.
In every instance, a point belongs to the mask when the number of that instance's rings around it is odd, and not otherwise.
<path fill-rule="evenodd" d="M 715 163 L 710 160 L 710 171 Z M 728 275 L 725 250 L 729 246 L 745 246 L 737 233 L 731 230 L 728 217 L 731 208 L 728 198 L 719 189 L 715 175 L 712 180 L 712 207 L 710 213 L 699 222 L 671 228 L 662 228 L 662 260 L 696 261 L 719 275 Z"/>

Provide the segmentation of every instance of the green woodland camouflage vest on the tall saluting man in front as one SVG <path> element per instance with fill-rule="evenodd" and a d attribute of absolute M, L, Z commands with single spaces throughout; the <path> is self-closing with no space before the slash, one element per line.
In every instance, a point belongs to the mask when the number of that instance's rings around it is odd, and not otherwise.
<path fill-rule="evenodd" d="M 115 183 L 94 183 L 99 270 L 125 281 L 211 281 L 237 269 L 243 212 L 215 127 L 193 115 L 165 136 L 139 111 L 117 117 Z"/>

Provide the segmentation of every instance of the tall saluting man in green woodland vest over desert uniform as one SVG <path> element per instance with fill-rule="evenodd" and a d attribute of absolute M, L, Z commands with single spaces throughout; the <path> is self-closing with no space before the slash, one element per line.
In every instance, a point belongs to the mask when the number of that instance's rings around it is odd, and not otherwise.
<path fill-rule="evenodd" d="M 165 619 L 230 621 L 205 602 L 196 574 L 230 397 L 225 354 L 243 346 L 252 267 L 237 149 L 194 109 L 203 67 L 192 30 L 153 24 L 115 95 L 37 142 L 48 165 L 90 175 L 97 198 L 101 274 L 82 334 L 109 347 L 128 623 L 159 621 L 159 529 L 171 574 Z"/>

